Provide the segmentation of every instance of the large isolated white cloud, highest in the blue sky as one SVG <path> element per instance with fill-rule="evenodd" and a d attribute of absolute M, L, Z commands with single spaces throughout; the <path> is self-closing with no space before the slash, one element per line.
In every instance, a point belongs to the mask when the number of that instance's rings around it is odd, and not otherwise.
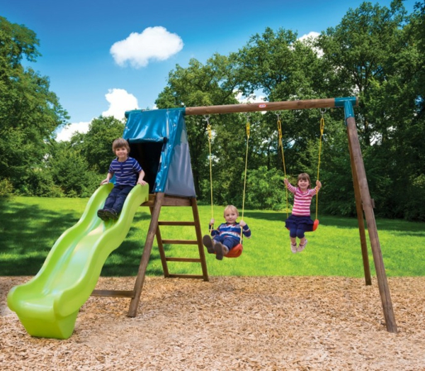
<path fill-rule="evenodd" d="M 149 60 L 167 60 L 183 49 L 183 40 L 162 26 L 148 27 L 142 33 L 130 33 L 111 46 L 111 55 L 120 66 L 145 67 Z"/>

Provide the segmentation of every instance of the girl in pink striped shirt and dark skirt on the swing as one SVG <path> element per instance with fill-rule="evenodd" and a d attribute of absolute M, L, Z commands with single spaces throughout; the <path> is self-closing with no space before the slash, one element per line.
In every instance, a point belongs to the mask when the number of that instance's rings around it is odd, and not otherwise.
<path fill-rule="evenodd" d="M 312 198 L 319 189 L 322 188 L 322 183 L 316 181 L 316 187 L 311 189 L 310 175 L 302 172 L 298 175 L 297 187 L 294 187 L 288 179 L 283 180 L 289 192 L 294 194 L 293 211 L 288 219 L 285 221 L 285 227 L 289 229 L 290 237 L 290 250 L 295 253 L 300 253 L 307 245 L 307 238 L 305 232 L 313 230 L 313 221 L 310 218 L 310 204 Z M 297 238 L 300 239 L 300 245 L 297 247 Z"/>

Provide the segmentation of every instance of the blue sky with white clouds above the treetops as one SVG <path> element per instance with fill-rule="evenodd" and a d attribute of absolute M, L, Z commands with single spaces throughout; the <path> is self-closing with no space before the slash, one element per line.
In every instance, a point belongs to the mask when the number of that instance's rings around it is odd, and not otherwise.
<path fill-rule="evenodd" d="M 390 0 L 371 1 L 390 6 Z M 404 1 L 410 13 L 414 0 Z M 30 28 L 41 56 L 25 62 L 50 79 L 69 113 L 57 140 L 85 133 L 93 118 L 154 109 L 176 65 L 237 52 L 267 27 L 301 38 L 335 27 L 351 0 L 0 0 L 0 16 Z"/>

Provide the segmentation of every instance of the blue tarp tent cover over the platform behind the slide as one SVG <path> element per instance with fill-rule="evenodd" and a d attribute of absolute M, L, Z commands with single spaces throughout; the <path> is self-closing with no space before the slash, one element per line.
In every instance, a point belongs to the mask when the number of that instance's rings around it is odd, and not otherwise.
<path fill-rule="evenodd" d="M 184 109 L 127 111 L 123 138 L 129 143 L 164 143 L 154 192 L 195 197 Z"/>

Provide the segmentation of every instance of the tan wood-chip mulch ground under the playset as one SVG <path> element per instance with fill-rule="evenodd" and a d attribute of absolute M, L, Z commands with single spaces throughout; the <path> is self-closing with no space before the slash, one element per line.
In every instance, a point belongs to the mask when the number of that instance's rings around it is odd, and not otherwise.
<path fill-rule="evenodd" d="M 425 277 L 147 277 L 130 299 L 90 297 L 67 340 L 33 338 L 6 306 L 30 277 L 0 277 L 0 370 L 425 370 Z M 101 277 L 98 289 L 132 289 Z"/>

